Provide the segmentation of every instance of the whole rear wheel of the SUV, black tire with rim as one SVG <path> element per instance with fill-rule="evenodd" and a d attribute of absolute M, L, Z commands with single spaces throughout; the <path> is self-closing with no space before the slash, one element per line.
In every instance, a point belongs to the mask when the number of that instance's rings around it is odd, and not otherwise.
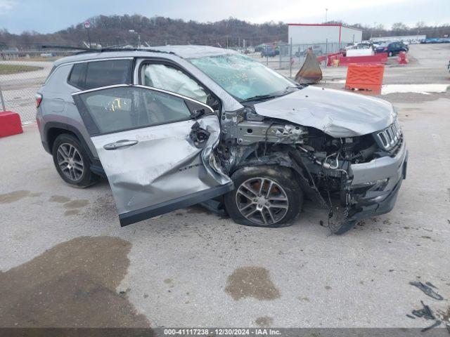
<path fill-rule="evenodd" d="M 88 187 L 100 178 L 91 171 L 91 160 L 75 136 L 59 135 L 53 142 L 53 163 L 63 180 L 73 187 Z"/>

